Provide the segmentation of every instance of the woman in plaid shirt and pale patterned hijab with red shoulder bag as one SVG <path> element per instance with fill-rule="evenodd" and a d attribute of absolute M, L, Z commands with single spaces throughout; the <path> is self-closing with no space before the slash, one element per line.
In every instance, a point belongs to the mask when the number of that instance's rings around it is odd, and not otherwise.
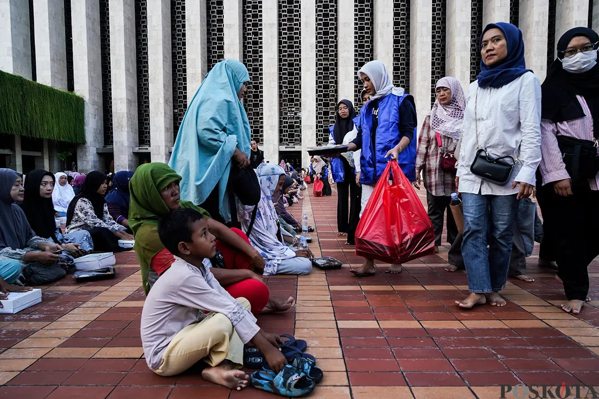
<path fill-rule="evenodd" d="M 436 85 L 437 100 L 431 113 L 425 118 L 420 130 L 418 153 L 416 153 L 416 181 L 420 190 L 420 172 L 424 170 L 428 217 L 435 229 L 435 252 L 441 246 L 443 214 L 447 212 L 447 242 L 453 243 L 458 228 L 449 209 L 451 194 L 455 193 L 456 169 L 441 167 L 443 153 L 453 151 L 463 130 L 466 98 L 456 78 L 441 78 Z"/>

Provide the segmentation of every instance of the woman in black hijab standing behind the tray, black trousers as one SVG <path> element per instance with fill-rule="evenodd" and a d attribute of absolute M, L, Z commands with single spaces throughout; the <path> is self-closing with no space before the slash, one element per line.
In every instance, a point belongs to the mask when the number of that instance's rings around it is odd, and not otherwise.
<path fill-rule="evenodd" d="M 355 118 L 353 103 L 350 100 L 341 100 L 337 104 L 335 124 L 329 127 L 329 145 L 349 144 L 356 138 L 355 134 L 352 134 Z M 332 158 L 331 172 L 333 181 L 337 183 L 337 235 L 347 236 L 352 226 L 357 226 L 356 219 L 360 213 L 361 190 L 356 184 L 353 152 Z"/>

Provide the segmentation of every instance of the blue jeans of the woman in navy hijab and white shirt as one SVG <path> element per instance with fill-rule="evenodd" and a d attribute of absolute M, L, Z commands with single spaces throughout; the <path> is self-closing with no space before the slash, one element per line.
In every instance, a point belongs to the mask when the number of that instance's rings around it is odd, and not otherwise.
<path fill-rule="evenodd" d="M 464 241 L 462 257 L 471 293 L 491 293 L 506 287 L 518 212 L 516 194 L 492 196 L 462 193 Z"/>

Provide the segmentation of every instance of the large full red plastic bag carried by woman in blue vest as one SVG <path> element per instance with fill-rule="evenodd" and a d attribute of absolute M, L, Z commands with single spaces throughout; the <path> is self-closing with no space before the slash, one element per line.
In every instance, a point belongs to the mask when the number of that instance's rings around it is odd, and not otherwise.
<path fill-rule="evenodd" d="M 356 229 L 356 255 L 401 264 L 434 253 L 434 245 L 431 220 L 416 191 L 397 162 L 389 162 Z"/>

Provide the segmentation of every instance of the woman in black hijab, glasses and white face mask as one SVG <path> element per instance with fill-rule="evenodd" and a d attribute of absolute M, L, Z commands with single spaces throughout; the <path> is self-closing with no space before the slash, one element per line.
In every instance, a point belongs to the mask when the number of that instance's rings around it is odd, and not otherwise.
<path fill-rule="evenodd" d="M 543 82 L 539 205 L 543 244 L 552 247 L 564 284 L 565 312 L 579 313 L 589 292 L 587 267 L 599 255 L 599 36 L 570 29 Z M 573 156 L 573 154 L 577 154 Z"/>

